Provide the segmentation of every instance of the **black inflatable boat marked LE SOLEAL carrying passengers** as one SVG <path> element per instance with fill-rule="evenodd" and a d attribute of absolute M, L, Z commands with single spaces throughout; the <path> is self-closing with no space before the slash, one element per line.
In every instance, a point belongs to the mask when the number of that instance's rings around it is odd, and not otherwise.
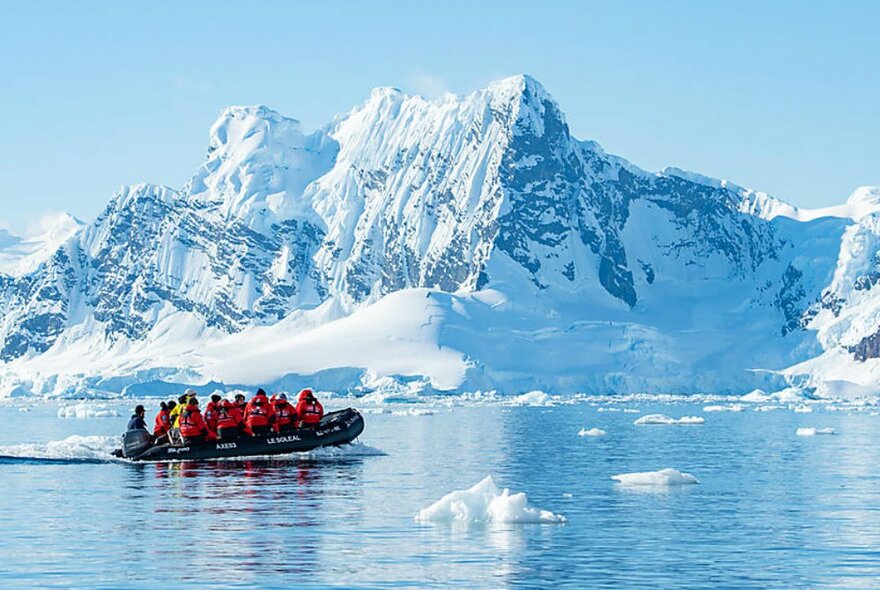
<path fill-rule="evenodd" d="M 357 410 L 347 408 L 325 414 L 314 427 L 257 436 L 242 435 L 223 440 L 156 445 L 146 430 L 130 430 L 122 436 L 122 448 L 115 450 L 113 455 L 132 461 L 203 461 L 228 457 L 286 455 L 344 445 L 352 442 L 363 431 L 363 416 Z"/>

